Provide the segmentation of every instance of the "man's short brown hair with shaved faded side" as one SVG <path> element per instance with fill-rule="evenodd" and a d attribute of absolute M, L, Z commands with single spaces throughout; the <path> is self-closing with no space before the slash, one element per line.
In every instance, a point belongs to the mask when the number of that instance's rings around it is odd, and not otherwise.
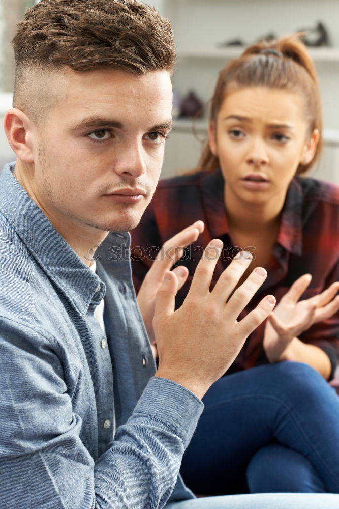
<path fill-rule="evenodd" d="M 13 105 L 35 120 L 50 102 L 44 97 L 41 72 L 69 67 L 79 73 L 172 73 L 176 62 L 169 20 L 136 0 L 41 0 L 26 11 L 12 45 Z M 42 87 L 35 93 L 39 79 Z"/>

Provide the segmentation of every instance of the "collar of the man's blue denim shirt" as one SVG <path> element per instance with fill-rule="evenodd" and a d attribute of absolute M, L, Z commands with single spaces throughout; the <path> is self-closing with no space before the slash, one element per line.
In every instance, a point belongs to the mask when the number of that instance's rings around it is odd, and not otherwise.
<path fill-rule="evenodd" d="M 7 164 L 0 176 L 0 211 L 43 271 L 79 312 L 85 314 L 91 301 L 99 302 L 103 298 L 105 284 L 82 262 L 28 196 L 13 176 L 14 167 L 15 163 Z M 121 237 L 114 234 L 108 237 L 110 246 L 118 247 L 129 239 L 126 233 Z"/>

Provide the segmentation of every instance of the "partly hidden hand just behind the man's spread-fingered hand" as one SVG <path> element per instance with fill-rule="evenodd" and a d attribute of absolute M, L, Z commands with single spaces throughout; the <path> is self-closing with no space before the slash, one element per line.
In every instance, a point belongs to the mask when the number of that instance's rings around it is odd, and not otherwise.
<path fill-rule="evenodd" d="M 152 321 L 156 306 L 156 295 L 164 280 L 164 276 L 166 272 L 171 270 L 175 262 L 182 257 L 183 248 L 195 242 L 203 230 L 204 223 L 196 221 L 167 240 L 142 282 L 137 301 L 151 343 L 155 342 Z M 186 281 L 189 271 L 186 267 L 179 266 L 175 267 L 172 272 L 177 278 L 177 290 L 179 290 Z"/>

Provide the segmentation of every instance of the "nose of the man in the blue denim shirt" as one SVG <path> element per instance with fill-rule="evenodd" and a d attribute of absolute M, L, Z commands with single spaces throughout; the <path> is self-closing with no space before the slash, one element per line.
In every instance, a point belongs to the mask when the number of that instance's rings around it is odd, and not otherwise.
<path fill-rule="evenodd" d="M 129 143 L 122 147 L 114 166 L 115 172 L 121 176 L 138 178 L 144 174 L 147 167 L 141 143 Z"/>

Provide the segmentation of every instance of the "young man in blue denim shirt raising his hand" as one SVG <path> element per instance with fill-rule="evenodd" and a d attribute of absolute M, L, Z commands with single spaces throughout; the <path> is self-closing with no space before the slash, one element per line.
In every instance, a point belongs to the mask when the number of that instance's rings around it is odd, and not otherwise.
<path fill-rule="evenodd" d="M 134 0 L 42 0 L 13 45 L 5 129 L 17 161 L 0 182 L 0 507 L 291 507 L 280 496 L 193 499 L 178 477 L 200 398 L 274 299 L 236 321 L 262 271 L 225 305 L 246 253 L 209 293 L 218 240 L 177 312 L 178 278 L 164 269 L 156 372 L 127 231 L 155 190 L 172 125 L 169 22 Z"/>

